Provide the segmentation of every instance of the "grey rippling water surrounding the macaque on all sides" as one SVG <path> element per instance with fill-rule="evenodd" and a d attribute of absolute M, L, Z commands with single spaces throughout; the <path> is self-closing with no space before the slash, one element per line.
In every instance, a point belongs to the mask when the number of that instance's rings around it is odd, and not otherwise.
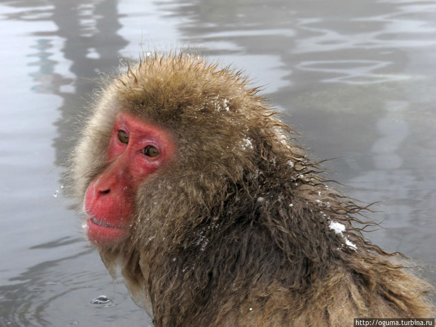
<path fill-rule="evenodd" d="M 0 325 L 150 323 L 61 191 L 98 73 L 141 48 L 245 68 L 312 157 L 336 158 L 343 191 L 381 201 L 368 236 L 436 284 L 435 14 L 425 0 L 0 1 Z"/>

